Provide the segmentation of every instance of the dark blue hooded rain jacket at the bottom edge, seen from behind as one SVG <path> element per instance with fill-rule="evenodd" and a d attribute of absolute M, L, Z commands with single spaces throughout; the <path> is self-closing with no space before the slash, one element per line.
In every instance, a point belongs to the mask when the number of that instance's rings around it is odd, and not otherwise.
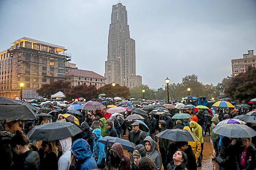
<path fill-rule="evenodd" d="M 92 157 L 90 145 L 86 140 L 77 139 L 74 141 L 71 150 L 76 159 L 75 170 L 92 170 L 98 168 Z"/>

